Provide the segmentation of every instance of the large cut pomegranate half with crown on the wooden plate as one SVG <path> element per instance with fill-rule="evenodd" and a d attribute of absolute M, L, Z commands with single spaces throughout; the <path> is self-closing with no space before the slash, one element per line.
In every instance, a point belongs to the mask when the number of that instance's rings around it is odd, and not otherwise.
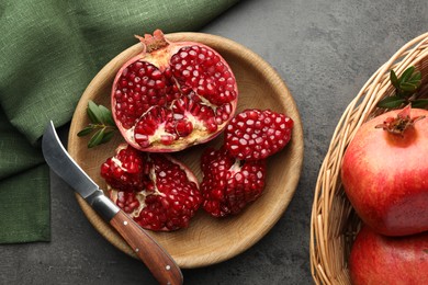
<path fill-rule="evenodd" d="M 111 94 L 113 118 L 126 141 L 169 152 L 217 136 L 238 99 L 226 60 L 200 43 L 168 42 L 159 30 L 138 38 L 144 50 L 119 70 Z"/>

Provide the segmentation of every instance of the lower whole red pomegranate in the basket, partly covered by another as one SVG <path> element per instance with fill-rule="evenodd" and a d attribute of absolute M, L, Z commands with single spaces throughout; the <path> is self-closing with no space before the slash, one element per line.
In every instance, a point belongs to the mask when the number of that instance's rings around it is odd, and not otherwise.
<path fill-rule="evenodd" d="M 428 284 L 428 231 L 386 237 L 363 227 L 352 244 L 349 274 L 353 285 Z"/>

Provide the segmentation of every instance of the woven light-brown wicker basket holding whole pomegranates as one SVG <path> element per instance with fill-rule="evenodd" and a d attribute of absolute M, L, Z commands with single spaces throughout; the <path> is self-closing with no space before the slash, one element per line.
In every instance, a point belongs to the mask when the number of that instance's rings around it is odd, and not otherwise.
<path fill-rule="evenodd" d="M 398 76 L 409 66 L 423 76 L 420 94 L 428 95 L 428 33 L 404 45 L 384 64 L 348 105 L 320 167 L 311 220 L 311 271 L 316 284 L 350 284 L 348 256 L 360 220 L 340 181 L 343 152 L 360 125 L 385 110 L 376 103 L 394 92 L 390 70 Z"/>

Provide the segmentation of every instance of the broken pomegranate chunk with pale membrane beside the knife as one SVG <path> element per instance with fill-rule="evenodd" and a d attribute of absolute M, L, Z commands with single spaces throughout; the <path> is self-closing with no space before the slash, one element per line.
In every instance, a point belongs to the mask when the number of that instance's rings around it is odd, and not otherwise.
<path fill-rule="evenodd" d="M 202 203 L 194 174 L 176 159 L 122 144 L 101 166 L 111 200 L 143 228 L 189 226 Z"/>

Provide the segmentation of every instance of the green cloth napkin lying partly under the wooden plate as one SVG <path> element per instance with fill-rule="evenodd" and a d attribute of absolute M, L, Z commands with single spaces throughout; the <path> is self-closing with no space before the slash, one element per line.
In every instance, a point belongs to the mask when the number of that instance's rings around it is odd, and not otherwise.
<path fill-rule="evenodd" d="M 238 0 L 3 0 L 0 3 L 0 243 L 48 241 L 48 122 L 70 121 L 85 88 L 134 34 L 196 31 Z"/>

